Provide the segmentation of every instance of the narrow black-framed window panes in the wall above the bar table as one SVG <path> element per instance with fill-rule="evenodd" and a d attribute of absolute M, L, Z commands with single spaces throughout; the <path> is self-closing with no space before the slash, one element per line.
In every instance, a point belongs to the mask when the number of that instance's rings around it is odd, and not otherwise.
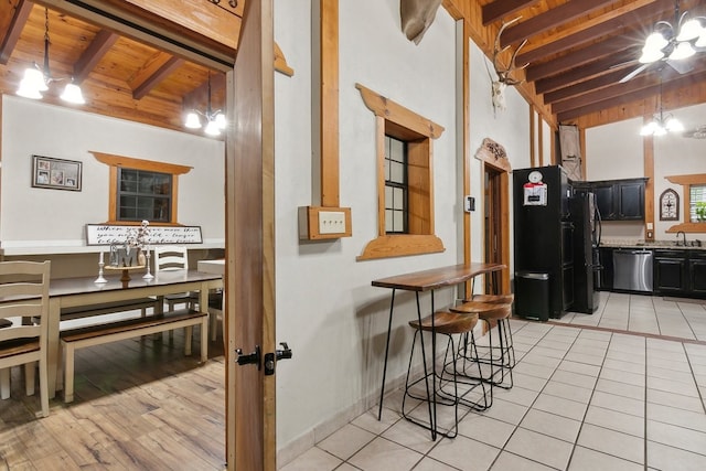
<path fill-rule="evenodd" d="M 408 233 L 407 143 L 385 136 L 385 232 Z"/>

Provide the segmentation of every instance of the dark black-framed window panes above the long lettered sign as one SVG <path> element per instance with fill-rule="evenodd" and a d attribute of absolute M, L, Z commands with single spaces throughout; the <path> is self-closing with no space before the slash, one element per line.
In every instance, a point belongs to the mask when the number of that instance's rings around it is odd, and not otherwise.
<path fill-rule="evenodd" d="M 118 221 L 169 223 L 172 174 L 118 168 Z"/>

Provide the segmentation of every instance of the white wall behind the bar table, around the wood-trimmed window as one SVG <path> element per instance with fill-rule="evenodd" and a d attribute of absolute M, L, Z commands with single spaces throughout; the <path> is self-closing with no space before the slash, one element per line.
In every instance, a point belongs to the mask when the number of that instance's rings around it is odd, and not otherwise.
<path fill-rule="evenodd" d="M 295 353 L 278 368 L 280 448 L 310 446 L 314 435 L 328 432 L 322 424 L 336 417 L 347 421 L 376 399 L 391 291 L 371 281 L 462 261 L 456 239 L 461 214 L 456 24 L 440 9 L 415 45 L 400 31 L 396 0 L 340 3 L 340 199 L 352 208 L 353 236 L 299 242 L 297 207 L 312 203 L 310 12 L 309 0 L 279 2 L 275 12 L 275 40 L 296 71 L 293 77 L 276 78 L 277 338 Z M 375 117 L 356 83 L 445 127 L 434 141 L 436 235 L 445 253 L 355 261 L 377 236 Z M 437 307 L 450 300 L 450 290 L 441 292 Z M 388 379 L 407 370 L 411 301 L 409 295 L 397 297 Z M 429 297 L 422 302 L 428 309 Z"/>

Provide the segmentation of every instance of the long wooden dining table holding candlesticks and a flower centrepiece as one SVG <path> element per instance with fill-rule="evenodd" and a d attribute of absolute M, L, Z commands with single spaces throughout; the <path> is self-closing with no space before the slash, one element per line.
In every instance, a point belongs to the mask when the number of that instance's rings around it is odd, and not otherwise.
<path fill-rule="evenodd" d="M 50 397 L 56 395 L 62 309 L 145 297 L 159 298 L 186 291 L 199 291 L 199 306 L 208 306 L 208 291 L 223 287 L 223 277 L 220 274 L 199 270 L 160 271 L 154 274 L 153 278 L 132 276 L 129 281 L 121 281 L 117 275 L 108 275 L 105 279 L 105 282 L 96 282 L 96 277 L 57 278 L 50 281 L 47 322 Z"/>

